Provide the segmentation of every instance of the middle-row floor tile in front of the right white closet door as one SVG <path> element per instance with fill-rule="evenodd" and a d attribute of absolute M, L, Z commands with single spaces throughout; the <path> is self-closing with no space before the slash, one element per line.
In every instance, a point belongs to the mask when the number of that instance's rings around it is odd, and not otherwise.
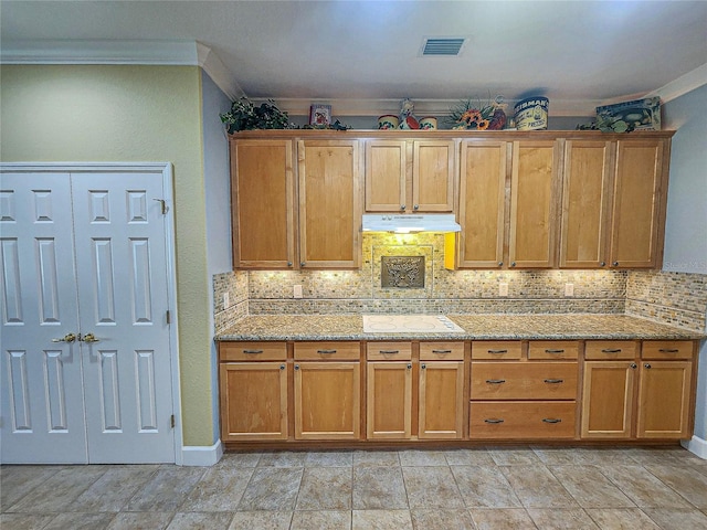
<path fill-rule="evenodd" d="M 68 507 L 70 511 L 120 511 L 157 471 L 157 466 L 117 466 L 105 471 Z"/>

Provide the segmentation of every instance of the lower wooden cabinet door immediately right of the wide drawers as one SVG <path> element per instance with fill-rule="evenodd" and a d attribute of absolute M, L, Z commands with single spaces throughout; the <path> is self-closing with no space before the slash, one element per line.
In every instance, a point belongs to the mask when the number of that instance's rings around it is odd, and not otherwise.
<path fill-rule="evenodd" d="M 582 438 L 629 438 L 633 423 L 636 363 L 584 362 Z"/>

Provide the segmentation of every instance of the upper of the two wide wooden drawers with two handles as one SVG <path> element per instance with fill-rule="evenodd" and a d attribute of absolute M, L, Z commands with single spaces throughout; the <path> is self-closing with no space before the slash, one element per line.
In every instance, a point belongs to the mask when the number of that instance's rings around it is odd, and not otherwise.
<path fill-rule="evenodd" d="M 576 362 L 473 362 L 472 400 L 574 400 Z"/>

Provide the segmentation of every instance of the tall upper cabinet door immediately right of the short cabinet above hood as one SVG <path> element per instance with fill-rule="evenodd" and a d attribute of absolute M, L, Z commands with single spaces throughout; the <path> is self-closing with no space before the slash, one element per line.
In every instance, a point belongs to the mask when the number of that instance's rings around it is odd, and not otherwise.
<path fill-rule="evenodd" d="M 503 266 L 506 153 L 506 141 L 462 142 L 458 267 Z"/>

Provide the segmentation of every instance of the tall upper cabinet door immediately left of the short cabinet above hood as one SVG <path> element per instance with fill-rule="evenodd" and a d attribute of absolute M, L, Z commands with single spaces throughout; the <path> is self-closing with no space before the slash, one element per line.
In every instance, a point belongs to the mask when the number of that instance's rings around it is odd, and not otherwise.
<path fill-rule="evenodd" d="M 302 268 L 361 266 L 359 156 L 358 140 L 298 142 Z"/>

